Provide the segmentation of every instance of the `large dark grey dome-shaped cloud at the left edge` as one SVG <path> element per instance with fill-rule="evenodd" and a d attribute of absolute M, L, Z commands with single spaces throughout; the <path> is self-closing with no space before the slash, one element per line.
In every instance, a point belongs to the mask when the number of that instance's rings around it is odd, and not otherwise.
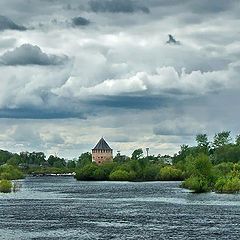
<path fill-rule="evenodd" d="M 23 44 L 0 56 L 0 64 L 16 65 L 59 65 L 68 60 L 67 56 L 57 56 L 44 53 L 38 46 Z"/>

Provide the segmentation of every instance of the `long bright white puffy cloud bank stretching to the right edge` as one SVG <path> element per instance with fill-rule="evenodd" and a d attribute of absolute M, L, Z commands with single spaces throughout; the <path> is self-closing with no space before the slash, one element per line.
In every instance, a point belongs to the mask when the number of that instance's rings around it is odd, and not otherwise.
<path fill-rule="evenodd" d="M 232 65 L 227 70 L 186 73 L 183 69 L 180 74 L 174 67 L 157 68 L 154 74 L 138 72 L 127 79 L 110 79 L 91 87 L 72 88 L 69 79 L 63 86 L 53 90 L 59 96 L 78 98 L 94 96 L 117 95 L 186 95 L 198 96 L 211 92 L 218 92 L 226 88 L 239 87 L 235 69 Z"/>

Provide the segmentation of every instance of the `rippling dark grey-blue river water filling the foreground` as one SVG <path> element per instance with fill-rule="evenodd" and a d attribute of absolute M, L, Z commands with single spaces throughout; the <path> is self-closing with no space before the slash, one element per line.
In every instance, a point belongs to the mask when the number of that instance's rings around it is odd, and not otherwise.
<path fill-rule="evenodd" d="M 239 239 L 240 195 L 178 182 L 29 177 L 0 194 L 0 239 Z"/>

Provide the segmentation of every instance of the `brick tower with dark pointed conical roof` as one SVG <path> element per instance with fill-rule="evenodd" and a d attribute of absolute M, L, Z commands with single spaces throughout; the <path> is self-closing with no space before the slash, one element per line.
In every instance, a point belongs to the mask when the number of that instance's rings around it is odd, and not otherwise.
<path fill-rule="evenodd" d="M 97 164 L 113 161 L 113 150 L 103 138 L 92 149 L 92 161 Z"/>

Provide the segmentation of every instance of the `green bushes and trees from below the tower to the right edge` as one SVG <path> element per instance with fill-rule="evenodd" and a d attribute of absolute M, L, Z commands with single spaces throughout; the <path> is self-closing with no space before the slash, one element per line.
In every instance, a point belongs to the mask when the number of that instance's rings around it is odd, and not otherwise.
<path fill-rule="evenodd" d="M 240 191 L 240 135 L 233 140 L 230 131 L 195 137 L 196 145 L 182 145 L 180 151 L 169 156 L 143 156 L 137 149 L 131 157 L 116 156 L 113 163 L 97 166 L 81 165 L 76 170 L 78 180 L 113 181 L 182 181 L 181 186 L 194 192 L 215 191 L 234 193 Z"/>

